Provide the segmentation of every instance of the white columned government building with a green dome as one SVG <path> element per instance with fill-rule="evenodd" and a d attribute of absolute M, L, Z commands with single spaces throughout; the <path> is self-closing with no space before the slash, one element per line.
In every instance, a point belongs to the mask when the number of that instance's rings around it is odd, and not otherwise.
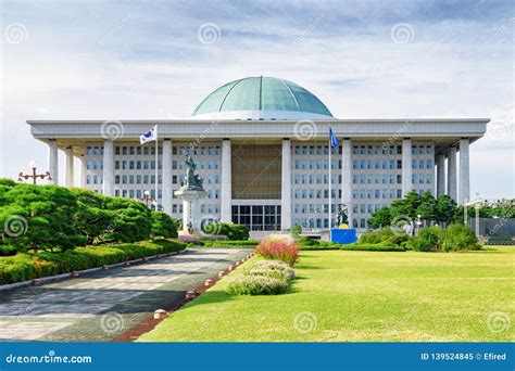
<path fill-rule="evenodd" d="M 367 228 L 370 213 L 410 191 L 469 200 L 469 145 L 488 118 L 338 119 L 306 89 L 278 78 L 248 77 L 209 94 L 191 117 L 166 120 L 28 120 L 48 143 L 58 183 L 58 151 L 65 153 L 65 184 L 106 195 L 143 199 L 181 219 L 174 196 L 188 148 L 209 197 L 204 218 L 253 231 L 328 227 L 329 125 L 340 140 L 331 161 L 335 215 L 346 204 L 352 227 Z M 155 142 L 139 137 L 158 125 Z M 74 184 L 74 157 L 80 184 Z M 445 169 L 447 167 L 447 169 Z"/>

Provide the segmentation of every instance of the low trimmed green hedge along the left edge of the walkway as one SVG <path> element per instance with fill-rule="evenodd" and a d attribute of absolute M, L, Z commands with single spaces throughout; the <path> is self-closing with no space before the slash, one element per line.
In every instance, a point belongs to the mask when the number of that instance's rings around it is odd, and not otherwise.
<path fill-rule="evenodd" d="M 186 244 L 180 241 L 161 239 L 130 244 L 76 247 L 59 254 L 20 253 L 0 257 L 0 284 L 97 268 L 184 248 Z"/>

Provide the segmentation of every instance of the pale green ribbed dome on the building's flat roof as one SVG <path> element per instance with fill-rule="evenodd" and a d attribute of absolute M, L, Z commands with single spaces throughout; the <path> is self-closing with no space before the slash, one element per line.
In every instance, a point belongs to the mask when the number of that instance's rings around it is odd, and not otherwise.
<path fill-rule="evenodd" d="M 322 101 L 294 82 L 246 77 L 209 94 L 192 119 L 332 119 Z"/>

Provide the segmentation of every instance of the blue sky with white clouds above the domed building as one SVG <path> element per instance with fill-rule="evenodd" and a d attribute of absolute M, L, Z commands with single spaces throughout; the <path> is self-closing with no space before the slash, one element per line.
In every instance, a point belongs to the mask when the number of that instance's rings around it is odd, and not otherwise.
<path fill-rule="evenodd" d="M 26 119 L 187 117 L 216 87 L 265 75 L 305 87 L 339 118 L 491 117 L 470 148 L 472 192 L 514 196 L 510 1 L 1 7 L 0 176 L 33 158 L 46 166 Z"/>

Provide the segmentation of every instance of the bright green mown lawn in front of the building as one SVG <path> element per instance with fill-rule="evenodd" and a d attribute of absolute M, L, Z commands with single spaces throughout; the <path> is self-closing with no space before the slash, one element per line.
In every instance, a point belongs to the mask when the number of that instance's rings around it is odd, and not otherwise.
<path fill-rule="evenodd" d="M 291 293 L 230 296 L 224 279 L 140 341 L 513 341 L 514 257 L 302 252 Z"/>

